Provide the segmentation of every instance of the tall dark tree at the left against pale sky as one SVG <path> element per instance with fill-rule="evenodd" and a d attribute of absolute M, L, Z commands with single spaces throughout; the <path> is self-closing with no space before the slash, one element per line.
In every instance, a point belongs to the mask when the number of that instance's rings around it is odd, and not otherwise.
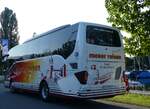
<path fill-rule="evenodd" d="M 5 8 L 0 15 L 2 38 L 9 40 L 9 49 L 18 44 L 18 21 L 16 14 L 9 8 Z"/>

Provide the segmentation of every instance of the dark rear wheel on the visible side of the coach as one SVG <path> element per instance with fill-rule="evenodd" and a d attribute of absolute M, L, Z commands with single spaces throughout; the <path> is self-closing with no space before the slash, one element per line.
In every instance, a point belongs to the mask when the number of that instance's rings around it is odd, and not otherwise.
<path fill-rule="evenodd" d="M 40 86 L 40 96 L 43 101 L 48 101 L 49 98 L 49 88 L 46 82 L 43 82 Z"/>

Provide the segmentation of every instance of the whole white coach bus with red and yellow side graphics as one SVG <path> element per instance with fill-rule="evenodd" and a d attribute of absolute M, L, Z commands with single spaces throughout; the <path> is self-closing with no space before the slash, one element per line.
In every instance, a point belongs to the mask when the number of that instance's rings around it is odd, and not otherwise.
<path fill-rule="evenodd" d="M 50 95 L 101 98 L 124 94 L 122 37 L 117 29 L 79 22 L 12 48 L 5 86 Z"/>

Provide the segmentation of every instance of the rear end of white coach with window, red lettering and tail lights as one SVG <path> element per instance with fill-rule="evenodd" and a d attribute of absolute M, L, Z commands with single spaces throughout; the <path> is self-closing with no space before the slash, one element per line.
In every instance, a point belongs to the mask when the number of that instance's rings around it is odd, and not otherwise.
<path fill-rule="evenodd" d="M 99 98 L 123 94 L 125 65 L 120 33 L 99 25 L 86 25 L 85 28 L 85 71 L 75 74 L 82 84 L 78 95 L 81 98 Z"/>

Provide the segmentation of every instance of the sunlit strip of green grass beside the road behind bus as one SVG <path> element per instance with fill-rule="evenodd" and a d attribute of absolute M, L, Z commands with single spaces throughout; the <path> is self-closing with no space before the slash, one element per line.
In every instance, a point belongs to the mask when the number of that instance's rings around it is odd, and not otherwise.
<path fill-rule="evenodd" d="M 106 100 L 150 107 L 150 96 L 141 95 L 141 94 L 119 95 L 113 98 L 108 98 Z"/>

